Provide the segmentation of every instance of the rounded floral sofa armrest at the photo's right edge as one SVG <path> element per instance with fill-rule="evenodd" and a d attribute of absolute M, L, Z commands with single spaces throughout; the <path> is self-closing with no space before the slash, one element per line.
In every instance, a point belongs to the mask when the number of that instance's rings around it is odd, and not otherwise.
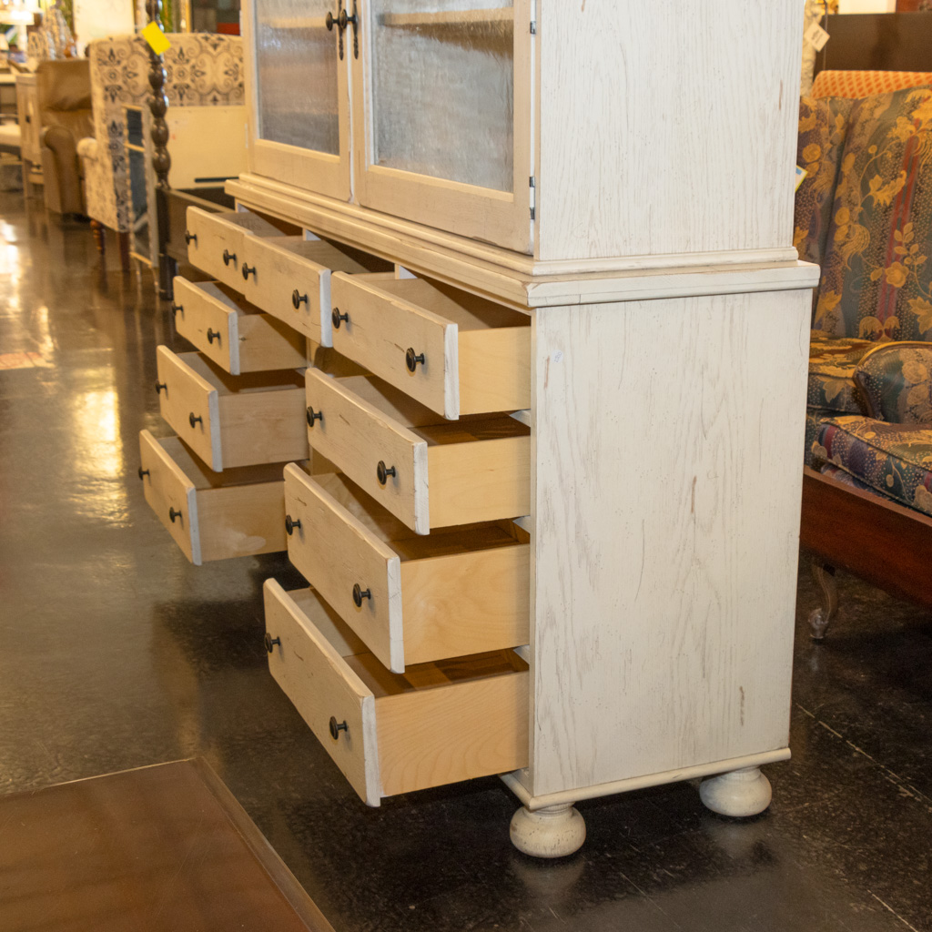
<path fill-rule="evenodd" d="M 854 378 L 871 418 L 932 424 L 932 343 L 882 343 L 857 363 Z"/>

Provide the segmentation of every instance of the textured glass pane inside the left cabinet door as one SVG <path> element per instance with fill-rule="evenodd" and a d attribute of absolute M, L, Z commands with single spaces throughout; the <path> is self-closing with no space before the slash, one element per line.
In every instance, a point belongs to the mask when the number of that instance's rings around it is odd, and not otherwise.
<path fill-rule="evenodd" d="M 257 0 L 259 138 L 339 154 L 336 0 Z"/>

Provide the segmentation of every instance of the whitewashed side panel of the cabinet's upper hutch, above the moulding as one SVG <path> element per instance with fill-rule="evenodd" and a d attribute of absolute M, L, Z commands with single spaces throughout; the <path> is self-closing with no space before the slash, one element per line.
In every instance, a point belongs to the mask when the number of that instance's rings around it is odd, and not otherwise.
<path fill-rule="evenodd" d="M 537 256 L 791 242 L 801 36 L 797 0 L 541 3 Z"/>

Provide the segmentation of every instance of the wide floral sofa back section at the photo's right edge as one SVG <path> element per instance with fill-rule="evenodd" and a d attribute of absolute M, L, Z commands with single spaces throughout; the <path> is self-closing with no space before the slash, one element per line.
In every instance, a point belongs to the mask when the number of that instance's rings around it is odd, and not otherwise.
<path fill-rule="evenodd" d="M 832 211 L 816 329 L 932 340 L 932 90 L 855 103 Z"/>

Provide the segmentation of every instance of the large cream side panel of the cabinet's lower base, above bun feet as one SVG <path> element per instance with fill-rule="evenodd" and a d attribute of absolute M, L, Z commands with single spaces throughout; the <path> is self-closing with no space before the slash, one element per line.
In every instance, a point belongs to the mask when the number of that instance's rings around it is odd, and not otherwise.
<path fill-rule="evenodd" d="M 535 795 L 786 747 L 810 300 L 536 312 Z"/>

